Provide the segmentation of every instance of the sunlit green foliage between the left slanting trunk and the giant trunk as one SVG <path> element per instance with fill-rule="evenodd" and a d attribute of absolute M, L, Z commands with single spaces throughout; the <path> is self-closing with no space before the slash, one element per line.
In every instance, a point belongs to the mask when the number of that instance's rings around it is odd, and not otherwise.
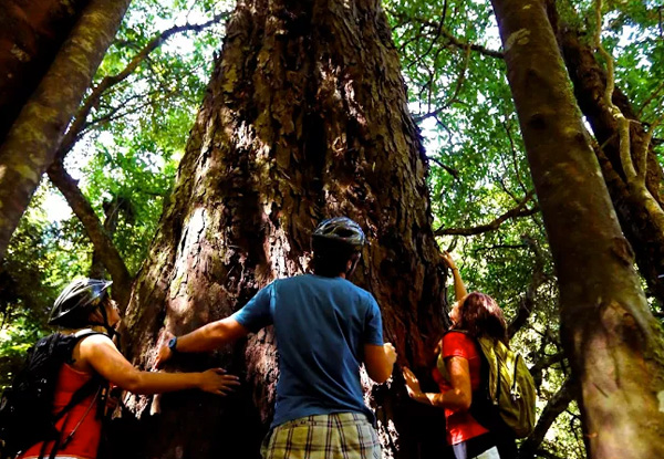
<path fill-rule="evenodd" d="M 123 72 L 159 32 L 206 23 L 229 10 L 228 3 L 133 2 L 94 85 Z M 222 40 L 222 22 L 219 18 L 203 31 L 173 35 L 127 79 L 104 92 L 65 160 L 102 221 L 105 204 L 124 204 L 113 241 L 131 273 L 147 253 L 163 199 L 173 185 L 214 52 Z M 62 286 L 76 275 L 89 275 L 91 269 L 93 247 L 81 222 L 45 206 L 52 205 L 48 197 L 54 192 L 42 185 L 0 271 L 0 389 L 27 348 L 48 333 L 48 313 Z"/>

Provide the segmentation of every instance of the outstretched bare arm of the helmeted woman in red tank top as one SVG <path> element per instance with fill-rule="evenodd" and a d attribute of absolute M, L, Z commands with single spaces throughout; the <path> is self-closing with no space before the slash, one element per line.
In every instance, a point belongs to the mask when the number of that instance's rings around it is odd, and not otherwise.
<path fill-rule="evenodd" d="M 200 389 L 226 395 L 239 385 L 238 377 L 221 368 L 203 373 L 151 373 L 136 369 L 103 335 L 84 338 L 80 346 L 81 359 L 104 379 L 135 394 L 160 394 L 183 389 Z"/>

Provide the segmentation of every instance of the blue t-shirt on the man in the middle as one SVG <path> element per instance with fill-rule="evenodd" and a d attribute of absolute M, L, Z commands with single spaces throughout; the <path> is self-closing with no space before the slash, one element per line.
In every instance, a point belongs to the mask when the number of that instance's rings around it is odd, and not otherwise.
<path fill-rule="evenodd" d="M 250 332 L 274 324 L 279 382 L 272 427 L 310 415 L 363 413 L 364 344 L 383 344 L 381 311 L 371 293 L 343 278 L 280 279 L 232 316 Z"/>

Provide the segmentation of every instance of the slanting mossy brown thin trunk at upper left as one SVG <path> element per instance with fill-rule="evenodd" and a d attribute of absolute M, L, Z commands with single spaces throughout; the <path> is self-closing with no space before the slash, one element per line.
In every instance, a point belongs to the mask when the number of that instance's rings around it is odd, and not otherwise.
<path fill-rule="evenodd" d="M 0 146 L 0 259 L 129 0 L 92 0 Z"/>

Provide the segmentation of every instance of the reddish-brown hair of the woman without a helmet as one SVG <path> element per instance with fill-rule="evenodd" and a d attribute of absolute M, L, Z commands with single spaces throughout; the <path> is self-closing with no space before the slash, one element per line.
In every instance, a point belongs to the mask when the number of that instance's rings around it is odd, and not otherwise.
<path fill-rule="evenodd" d="M 502 310 L 491 296 L 473 292 L 458 305 L 458 321 L 453 330 L 463 330 L 473 337 L 492 337 L 509 344 Z"/>

